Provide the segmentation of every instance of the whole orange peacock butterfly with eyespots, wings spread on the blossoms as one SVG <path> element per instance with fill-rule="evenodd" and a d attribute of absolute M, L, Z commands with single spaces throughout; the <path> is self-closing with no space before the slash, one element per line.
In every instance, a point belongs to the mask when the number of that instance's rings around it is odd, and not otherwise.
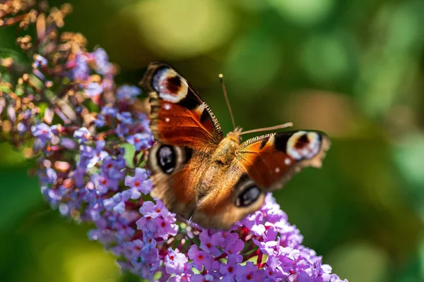
<path fill-rule="evenodd" d="M 141 80 L 157 141 L 148 152 L 151 195 L 171 212 L 204 228 L 228 229 L 257 211 L 266 192 L 305 166 L 321 167 L 329 137 L 312 130 L 271 133 L 241 141 L 225 137 L 215 115 L 175 68 L 154 61 Z"/>

